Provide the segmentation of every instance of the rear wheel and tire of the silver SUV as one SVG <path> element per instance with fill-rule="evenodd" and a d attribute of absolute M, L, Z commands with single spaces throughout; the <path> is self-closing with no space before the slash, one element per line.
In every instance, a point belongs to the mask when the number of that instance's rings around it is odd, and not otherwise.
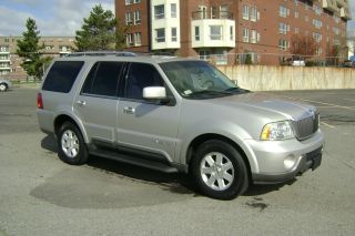
<path fill-rule="evenodd" d="M 88 148 L 80 130 L 71 122 L 65 122 L 57 134 L 58 156 L 70 165 L 88 162 Z"/>

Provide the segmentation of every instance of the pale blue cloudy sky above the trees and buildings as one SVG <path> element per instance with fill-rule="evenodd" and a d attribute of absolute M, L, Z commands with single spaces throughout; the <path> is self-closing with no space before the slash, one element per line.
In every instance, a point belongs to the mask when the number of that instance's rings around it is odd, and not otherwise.
<path fill-rule="evenodd" d="M 355 18 L 355 0 L 349 2 Z M 0 35 L 21 35 L 28 18 L 36 20 L 41 35 L 74 35 L 99 3 L 114 12 L 114 0 L 0 0 Z M 355 33 L 354 20 L 348 27 Z"/>

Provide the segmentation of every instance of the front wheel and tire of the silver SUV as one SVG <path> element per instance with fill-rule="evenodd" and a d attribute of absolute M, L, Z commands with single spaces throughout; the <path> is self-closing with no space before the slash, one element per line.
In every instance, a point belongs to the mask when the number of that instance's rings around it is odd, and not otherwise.
<path fill-rule="evenodd" d="M 192 176 L 202 194 L 216 199 L 233 199 L 248 186 L 242 155 L 229 143 L 212 140 L 201 144 L 191 163 Z"/>

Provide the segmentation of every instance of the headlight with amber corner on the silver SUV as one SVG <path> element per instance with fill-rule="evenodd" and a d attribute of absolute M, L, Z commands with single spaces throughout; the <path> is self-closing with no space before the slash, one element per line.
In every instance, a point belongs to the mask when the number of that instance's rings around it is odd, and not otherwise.
<path fill-rule="evenodd" d="M 290 121 L 281 121 L 266 124 L 260 138 L 262 141 L 282 141 L 294 136 Z"/>

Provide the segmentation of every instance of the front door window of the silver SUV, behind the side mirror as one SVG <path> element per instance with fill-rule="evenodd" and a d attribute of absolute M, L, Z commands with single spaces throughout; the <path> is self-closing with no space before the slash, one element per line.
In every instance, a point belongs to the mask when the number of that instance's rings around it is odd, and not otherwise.
<path fill-rule="evenodd" d="M 164 86 L 164 81 L 152 64 L 131 63 L 125 85 L 125 98 L 143 99 L 146 86 Z"/>

